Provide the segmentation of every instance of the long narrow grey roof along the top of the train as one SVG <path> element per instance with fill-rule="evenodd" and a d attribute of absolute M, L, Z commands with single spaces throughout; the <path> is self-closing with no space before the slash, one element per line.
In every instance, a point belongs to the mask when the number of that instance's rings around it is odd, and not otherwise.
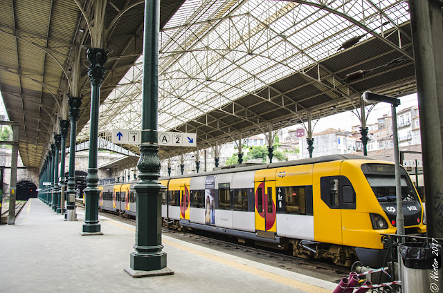
<path fill-rule="evenodd" d="M 343 160 L 374 160 L 372 158 L 368 158 L 365 155 L 324 155 L 322 157 L 317 158 L 308 158 L 294 161 L 284 161 L 284 162 L 276 162 L 272 164 L 235 164 L 224 167 L 217 167 L 213 171 L 194 173 L 194 174 L 186 174 L 180 176 L 167 176 L 161 177 L 159 180 L 168 180 L 171 178 L 189 178 L 189 177 L 197 177 L 197 176 L 209 176 L 209 175 L 217 175 L 224 173 L 237 173 L 242 171 L 254 171 L 254 170 L 262 170 L 262 169 L 271 169 L 271 168 L 280 168 L 280 167 L 288 167 L 288 166 L 298 166 L 303 164 L 316 164 L 323 162 L 332 162 L 332 161 L 343 161 Z"/>

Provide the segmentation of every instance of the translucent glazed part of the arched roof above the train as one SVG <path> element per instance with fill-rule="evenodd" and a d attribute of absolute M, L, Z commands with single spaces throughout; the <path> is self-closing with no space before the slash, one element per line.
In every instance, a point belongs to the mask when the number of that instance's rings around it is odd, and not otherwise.
<path fill-rule="evenodd" d="M 383 32 L 408 21 L 404 0 L 187 0 L 159 39 L 159 130 L 174 130 L 282 77 L 316 66 L 354 36 L 337 13 Z M 326 6 L 322 10 L 314 4 Z M 100 106 L 99 133 L 140 129 L 142 57 Z M 310 77 L 309 77 L 310 78 Z M 326 86 L 319 85 L 327 88 Z M 79 135 L 89 135 L 89 124 Z"/>

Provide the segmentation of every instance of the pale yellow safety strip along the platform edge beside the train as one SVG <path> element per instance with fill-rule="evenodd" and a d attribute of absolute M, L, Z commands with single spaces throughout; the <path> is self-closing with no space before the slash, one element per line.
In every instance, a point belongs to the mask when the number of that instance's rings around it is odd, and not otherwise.
<path fill-rule="evenodd" d="M 136 229 L 134 229 L 134 228 L 129 228 L 124 225 L 120 225 L 118 223 L 115 223 L 114 221 L 109 221 L 107 223 L 111 223 L 112 225 L 115 225 L 115 226 L 123 228 L 123 229 L 127 229 L 129 231 L 134 231 L 134 232 L 136 231 Z M 302 291 L 310 292 L 310 293 L 331 293 L 331 290 L 326 290 L 325 288 L 322 288 L 322 287 L 318 287 L 318 286 L 311 285 L 308 283 L 303 283 L 301 281 L 296 281 L 296 280 L 293 280 L 292 278 L 287 278 L 285 276 L 279 276 L 278 274 L 266 272 L 264 270 L 260 270 L 255 267 L 251 267 L 249 265 L 244 265 L 242 263 L 237 263 L 235 261 L 229 261 L 229 260 L 222 258 L 220 256 L 214 256 L 214 255 L 208 254 L 206 252 L 200 252 L 197 249 L 190 248 L 185 245 L 178 244 L 178 243 L 174 243 L 170 240 L 164 239 L 162 241 L 163 241 L 163 243 L 165 243 L 167 245 L 179 248 L 181 250 L 185 250 L 186 252 L 190 252 L 192 254 L 196 254 L 198 256 L 208 258 L 211 261 L 215 261 L 217 263 L 222 263 L 224 265 L 228 265 L 229 267 L 233 267 L 237 270 L 242 270 L 244 272 L 248 272 L 249 274 L 254 274 L 255 276 L 261 276 L 262 278 L 267 278 L 269 281 L 273 281 L 273 282 L 277 282 L 277 283 L 280 283 L 283 285 L 287 285 L 289 287 L 293 287 L 298 290 L 302 290 Z"/>

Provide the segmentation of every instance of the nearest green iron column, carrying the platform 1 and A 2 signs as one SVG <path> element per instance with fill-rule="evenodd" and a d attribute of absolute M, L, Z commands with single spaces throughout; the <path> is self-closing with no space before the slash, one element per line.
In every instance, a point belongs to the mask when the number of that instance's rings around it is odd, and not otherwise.
<path fill-rule="evenodd" d="M 132 277 L 174 274 L 166 267 L 166 253 L 161 244 L 161 193 L 165 187 L 160 177 L 157 144 L 157 107 L 159 97 L 159 21 L 160 0 L 145 1 L 143 37 L 143 83 L 140 159 L 137 167 L 140 181 L 136 193 L 136 244 L 131 265 L 125 268 Z"/>

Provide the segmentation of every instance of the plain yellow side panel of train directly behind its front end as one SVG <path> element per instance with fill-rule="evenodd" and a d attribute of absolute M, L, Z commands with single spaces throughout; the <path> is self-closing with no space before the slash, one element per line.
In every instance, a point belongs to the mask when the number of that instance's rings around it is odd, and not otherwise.
<path fill-rule="evenodd" d="M 342 244 L 341 210 L 338 202 L 338 181 L 341 161 L 314 164 L 312 189 L 314 204 L 314 239 L 316 241 Z M 321 185 L 327 186 L 321 195 Z"/>

